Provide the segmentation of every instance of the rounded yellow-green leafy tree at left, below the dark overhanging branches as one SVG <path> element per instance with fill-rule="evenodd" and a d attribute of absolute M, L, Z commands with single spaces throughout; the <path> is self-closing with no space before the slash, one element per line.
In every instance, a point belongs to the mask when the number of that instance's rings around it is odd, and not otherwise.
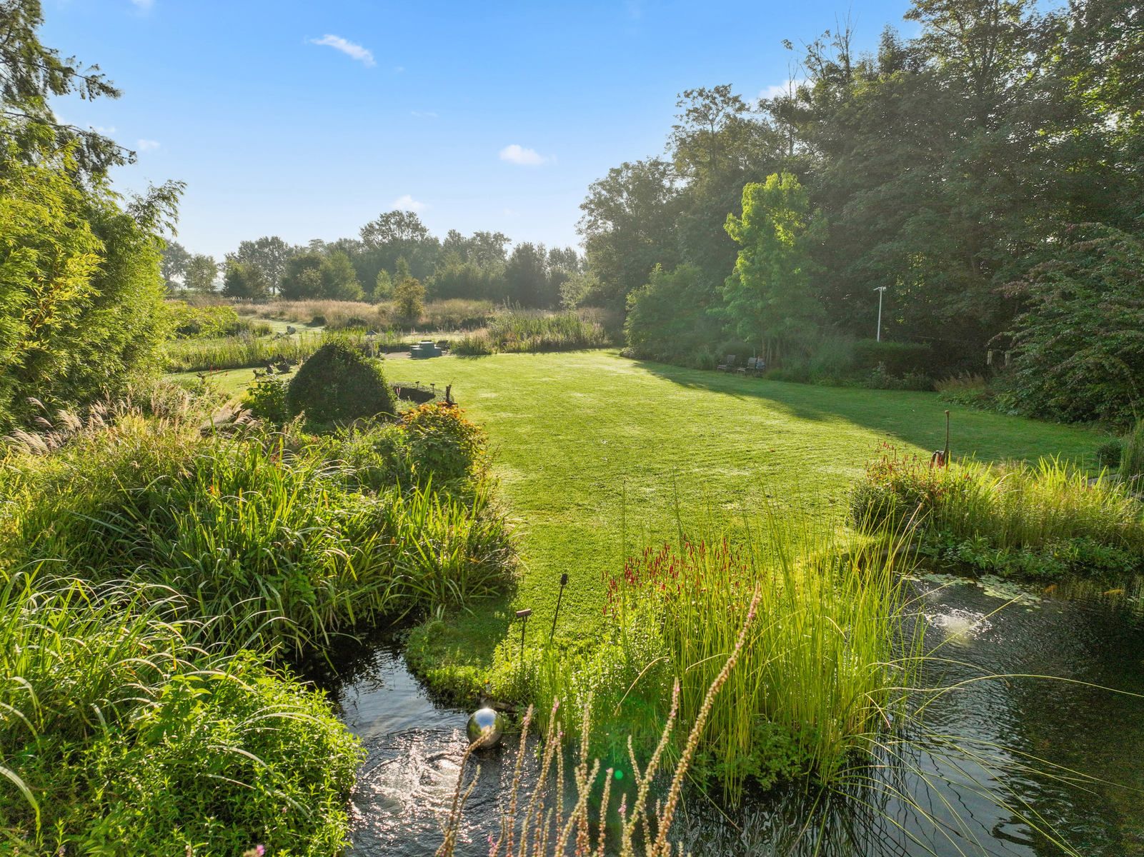
<path fill-rule="evenodd" d="M 21 151 L 0 127 L 0 431 L 30 397 L 82 407 L 152 371 L 166 335 L 160 241 L 177 191 L 129 210 L 104 179 L 82 182 L 72 147 Z M 27 143 L 27 141 L 23 141 Z"/>

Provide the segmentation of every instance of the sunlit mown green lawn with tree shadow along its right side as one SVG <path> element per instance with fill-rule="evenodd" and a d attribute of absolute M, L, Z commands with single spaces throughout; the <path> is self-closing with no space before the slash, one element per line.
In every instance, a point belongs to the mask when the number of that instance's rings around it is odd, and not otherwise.
<path fill-rule="evenodd" d="M 564 634 L 590 634 L 601 577 L 627 548 L 683 526 L 721 524 L 768 505 L 837 526 L 848 488 L 882 441 L 929 454 L 944 442 L 934 393 L 785 384 L 634 362 L 614 352 L 440 358 L 406 381 L 453 385 L 488 432 L 494 470 L 518 521 L 524 568 L 500 604 L 456 620 L 439 654 L 484 660 L 514 610 L 547 636 L 561 572 Z M 407 371 L 405 374 L 408 374 Z M 952 407 L 953 451 L 983 459 L 1062 455 L 1091 462 L 1088 430 Z M 538 638 L 539 639 L 539 638 Z"/>

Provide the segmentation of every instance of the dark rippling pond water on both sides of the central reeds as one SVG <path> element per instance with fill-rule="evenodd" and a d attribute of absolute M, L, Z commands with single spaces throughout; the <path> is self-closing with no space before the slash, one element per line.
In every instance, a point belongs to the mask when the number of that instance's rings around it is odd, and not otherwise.
<path fill-rule="evenodd" d="M 696 855 L 1041 857 L 1066 854 L 1059 839 L 1086 857 L 1144 856 L 1144 698 L 1128 695 L 1144 695 L 1138 590 L 1062 587 L 1009 603 L 1003 584 L 929 576 L 914 586 L 925 650 L 943 658 L 925 686 L 958 689 L 909 728 L 899 763 L 863 771 L 877 787 L 858 800 L 789 788 L 730 814 L 692 796 L 675 836 Z M 368 751 L 350 854 L 432 854 L 468 712 L 434 705 L 391 647 L 347 678 L 334 696 Z M 459 855 L 486 855 L 499 832 L 516 739 L 506 745 L 479 760 Z"/>

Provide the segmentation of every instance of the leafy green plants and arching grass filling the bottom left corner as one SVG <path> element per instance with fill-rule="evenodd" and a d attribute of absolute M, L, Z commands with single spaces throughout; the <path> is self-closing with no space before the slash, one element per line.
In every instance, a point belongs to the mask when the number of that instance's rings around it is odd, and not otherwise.
<path fill-rule="evenodd" d="M 0 572 L 0 818 L 19 854 L 334 854 L 360 750 L 326 699 L 136 584 Z"/>

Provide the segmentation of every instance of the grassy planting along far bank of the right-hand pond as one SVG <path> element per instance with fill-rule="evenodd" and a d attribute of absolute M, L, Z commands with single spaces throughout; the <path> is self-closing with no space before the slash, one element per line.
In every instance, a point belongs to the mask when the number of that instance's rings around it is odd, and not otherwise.
<path fill-rule="evenodd" d="M 887 447 L 855 487 L 860 528 L 907 527 L 923 552 L 979 571 L 1031 577 L 1144 570 L 1144 504 L 1119 482 L 1055 459 L 930 466 Z"/>

